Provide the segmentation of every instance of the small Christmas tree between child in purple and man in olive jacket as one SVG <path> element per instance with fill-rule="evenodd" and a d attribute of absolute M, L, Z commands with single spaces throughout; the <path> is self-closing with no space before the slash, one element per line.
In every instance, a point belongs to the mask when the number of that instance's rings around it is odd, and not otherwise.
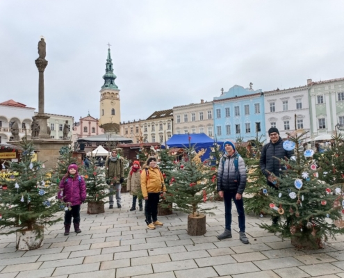
<path fill-rule="evenodd" d="M 104 199 L 108 196 L 106 193 L 108 185 L 105 179 L 105 169 L 104 167 L 98 167 L 96 158 L 91 157 L 89 166 L 85 170 L 87 213 L 104 213 Z"/>

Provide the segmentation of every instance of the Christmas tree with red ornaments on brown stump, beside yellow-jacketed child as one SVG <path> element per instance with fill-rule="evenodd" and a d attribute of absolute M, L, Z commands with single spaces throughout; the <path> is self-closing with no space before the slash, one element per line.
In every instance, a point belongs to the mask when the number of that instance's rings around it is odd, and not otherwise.
<path fill-rule="evenodd" d="M 190 145 L 190 144 L 189 144 Z M 179 163 L 183 165 L 180 170 L 171 171 L 172 179 L 168 187 L 167 201 L 174 204 L 175 208 L 188 215 L 188 234 L 200 236 L 206 233 L 206 217 L 204 213 L 211 213 L 211 209 L 202 206 L 212 194 L 211 170 L 199 162 L 193 147 L 186 149 L 188 159 Z"/>

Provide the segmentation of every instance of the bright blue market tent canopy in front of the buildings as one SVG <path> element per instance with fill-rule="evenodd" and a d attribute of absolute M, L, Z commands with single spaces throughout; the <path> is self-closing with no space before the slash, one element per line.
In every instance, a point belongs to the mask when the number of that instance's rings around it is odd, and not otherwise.
<path fill-rule="evenodd" d="M 205 161 L 211 155 L 211 147 L 214 144 L 219 144 L 222 149 L 223 142 L 218 142 L 209 136 L 206 136 L 204 133 L 197 134 L 174 134 L 170 140 L 167 140 L 166 145 L 168 147 L 189 147 L 189 136 L 191 147 L 194 147 L 196 152 L 200 149 L 206 149 L 205 154 L 201 157 L 202 161 Z"/>

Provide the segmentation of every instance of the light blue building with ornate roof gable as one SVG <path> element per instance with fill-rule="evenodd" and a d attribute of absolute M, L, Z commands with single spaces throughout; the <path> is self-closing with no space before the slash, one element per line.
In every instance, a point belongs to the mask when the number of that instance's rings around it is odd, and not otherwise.
<path fill-rule="evenodd" d="M 243 138 L 244 142 L 258 136 L 265 139 L 264 96 L 262 90 L 234 85 L 220 97 L 214 97 L 214 135 L 219 141 Z"/>

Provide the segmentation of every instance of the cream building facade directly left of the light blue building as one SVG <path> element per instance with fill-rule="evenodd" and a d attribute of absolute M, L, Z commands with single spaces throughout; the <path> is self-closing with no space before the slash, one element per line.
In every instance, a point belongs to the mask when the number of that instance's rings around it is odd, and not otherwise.
<path fill-rule="evenodd" d="M 213 101 L 173 107 L 174 134 L 205 133 L 214 137 Z"/>

